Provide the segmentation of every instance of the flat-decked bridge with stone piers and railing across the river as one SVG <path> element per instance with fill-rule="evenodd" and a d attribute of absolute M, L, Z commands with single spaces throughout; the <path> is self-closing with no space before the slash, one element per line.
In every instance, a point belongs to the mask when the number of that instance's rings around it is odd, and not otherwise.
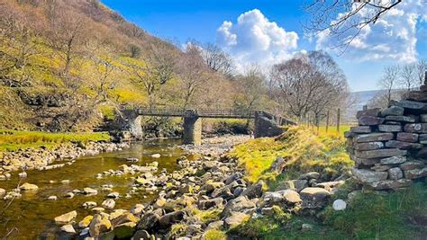
<path fill-rule="evenodd" d="M 185 144 L 200 145 L 202 142 L 202 119 L 253 119 L 255 138 L 280 135 L 280 126 L 295 125 L 295 122 L 275 116 L 267 111 L 213 110 L 213 109 L 164 109 L 134 108 L 122 111 L 125 118 L 123 130 L 130 131 L 133 138 L 141 138 L 141 117 L 179 117 L 184 119 Z"/>

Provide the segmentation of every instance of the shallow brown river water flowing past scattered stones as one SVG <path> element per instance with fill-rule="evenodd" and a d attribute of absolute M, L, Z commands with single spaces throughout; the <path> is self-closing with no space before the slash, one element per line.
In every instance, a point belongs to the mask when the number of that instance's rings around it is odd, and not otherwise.
<path fill-rule="evenodd" d="M 177 168 L 177 158 L 186 155 L 186 152 L 178 147 L 180 143 L 178 139 L 150 140 L 135 143 L 123 151 L 83 156 L 74 164 L 66 164 L 59 169 L 28 171 L 28 177 L 22 179 L 21 183 L 36 184 L 39 186 L 39 190 L 23 192 L 22 198 L 15 199 L 6 209 L 6 201 L 0 200 L 0 212 L 5 209 L 4 214 L 0 214 L 0 238 L 14 230 L 13 234 L 8 237 L 9 239 L 67 239 L 66 236 L 60 236 L 59 227 L 55 226 L 53 218 L 72 210 L 77 210 L 77 222 L 87 215 L 93 215 L 90 209 L 82 208 L 82 204 L 85 201 L 95 201 L 100 206 L 110 192 L 101 191 L 101 186 L 104 184 L 112 184 L 113 191 L 121 194 L 121 198 L 115 200 L 114 209 L 130 209 L 136 203 L 154 199 L 156 195 L 148 192 L 137 192 L 132 195 L 131 199 L 123 197 L 132 186 L 132 175 L 104 176 L 99 180 L 95 176 L 97 173 L 103 173 L 109 169 L 117 170 L 122 164 L 129 164 L 126 162 L 128 157 L 139 158 L 140 161 L 134 164 L 140 165 L 157 161 L 159 162 L 159 172 L 163 168 L 166 168 L 169 173 L 173 172 Z M 153 158 L 151 157 L 153 154 L 161 156 Z M 63 180 L 69 180 L 69 183 L 61 183 Z M 16 188 L 19 182 L 17 173 L 14 173 L 11 180 L 0 182 L 0 188 L 10 191 Z M 72 199 L 63 197 L 68 191 L 82 190 L 85 187 L 98 190 L 98 194 L 95 196 L 76 194 Z M 47 200 L 51 195 L 58 196 L 58 200 Z"/>

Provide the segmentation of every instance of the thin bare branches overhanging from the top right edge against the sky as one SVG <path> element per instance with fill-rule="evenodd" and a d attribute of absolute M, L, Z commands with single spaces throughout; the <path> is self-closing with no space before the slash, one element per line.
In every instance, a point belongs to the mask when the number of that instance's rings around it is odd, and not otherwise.
<path fill-rule="evenodd" d="M 402 0 L 314 0 L 304 5 L 311 19 L 304 25 L 309 35 L 328 33 L 346 48 L 368 25 L 375 24 Z"/>

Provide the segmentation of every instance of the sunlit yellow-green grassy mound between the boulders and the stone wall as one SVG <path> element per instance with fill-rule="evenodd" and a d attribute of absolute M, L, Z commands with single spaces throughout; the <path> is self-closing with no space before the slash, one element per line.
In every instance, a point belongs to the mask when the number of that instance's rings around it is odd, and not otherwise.
<path fill-rule="evenodd" d="M 278 156 L 286 159 L 286 172 L 282 175 L 268 173 Z M 291 127 L 278 138 L 257 138 L 233 148 L 229 157 L 238 158 L 244 166 L 246 179 L 277 182 L 295 173 L 317 171 L 339 174 L 349 169 L 353 162 L 345 150 L 345 138 L 340 135 L 319 134 L 304 127 Z"/>

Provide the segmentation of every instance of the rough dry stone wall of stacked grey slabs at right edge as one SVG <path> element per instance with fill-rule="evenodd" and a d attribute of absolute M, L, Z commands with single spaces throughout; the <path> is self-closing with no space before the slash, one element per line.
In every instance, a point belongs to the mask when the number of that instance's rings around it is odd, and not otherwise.
<path fill-rule="evenodd" d="M 375 190 L 400 189 L 427 177 L 427 79 L 387 109 L 358 111 L 346 132 L 353 177 Z"/>

